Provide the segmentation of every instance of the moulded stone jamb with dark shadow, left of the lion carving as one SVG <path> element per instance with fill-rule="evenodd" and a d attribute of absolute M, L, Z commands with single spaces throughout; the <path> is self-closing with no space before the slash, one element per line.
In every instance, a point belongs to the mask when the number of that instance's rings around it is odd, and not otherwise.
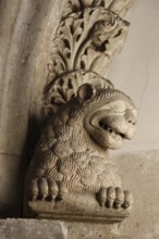
<path fill-rule="evenodd" d="M 65 1 L 0 7 L 0 211 L 21 216 L 23 180 L 40 122 L 51 39 Z M 36 135 L 37 134 L 37 135 Z"/>

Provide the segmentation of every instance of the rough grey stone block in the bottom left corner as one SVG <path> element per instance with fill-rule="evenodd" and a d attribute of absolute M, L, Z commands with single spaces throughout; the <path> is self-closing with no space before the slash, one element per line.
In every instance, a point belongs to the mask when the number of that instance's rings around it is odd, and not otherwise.
<path fill-rule="evenodd" d="M 36 219 L 1 219 L 0 239 L 66 239 L 64 223 Z"/>

